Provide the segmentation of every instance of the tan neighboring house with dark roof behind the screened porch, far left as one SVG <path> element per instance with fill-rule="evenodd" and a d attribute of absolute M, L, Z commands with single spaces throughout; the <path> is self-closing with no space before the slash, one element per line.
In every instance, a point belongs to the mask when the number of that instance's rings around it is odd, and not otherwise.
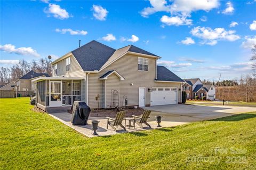
<path fill-rule="evenodd" d="M 34 91 L 35 84 L 31 80 L 37 77 L 50 77 L 47 73 L 37 73 L 33 70 L 27 72 L 27 74 L 20 77 L 17 81 L 18 91 Z"/>

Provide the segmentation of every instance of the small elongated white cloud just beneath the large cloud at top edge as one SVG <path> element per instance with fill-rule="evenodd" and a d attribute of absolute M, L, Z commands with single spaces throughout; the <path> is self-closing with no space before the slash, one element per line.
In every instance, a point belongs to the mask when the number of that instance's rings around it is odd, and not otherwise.
<path fill-rule="evenodd" d="M 167 15 L 163 15 L 160 19 L 161 22 L 165 23 L 168 26 L 182 26 L 182 25 L 192 25 L 191 19 L 187 19 L 184 16 L 175 16 L 175 17 L 168 17 Z"/>

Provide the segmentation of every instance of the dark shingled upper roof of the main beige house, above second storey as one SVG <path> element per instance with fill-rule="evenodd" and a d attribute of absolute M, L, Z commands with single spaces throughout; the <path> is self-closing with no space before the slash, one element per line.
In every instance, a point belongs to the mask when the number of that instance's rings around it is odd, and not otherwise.
<path fill-rule="evenodd" d="M 128 45 L 115 50 L 114 48 L 111 48 L 94 40 L 77 48 L 74 51 L 71 51 L 71 54 L 74 55 L 78 64 L 84 71 L 99 71 L 102 68 L 107 67 L 109 64 L 111 64 L 127 52 L 140 53 L 160 58 L 153 53 L 142 50 L 141 48 L 133 45 Z M 61 58 L 53 61 L 52 64 L 55 64 L 56 62 L 68 56 L 70 56 L 70 53 L 67 53 Z"/>

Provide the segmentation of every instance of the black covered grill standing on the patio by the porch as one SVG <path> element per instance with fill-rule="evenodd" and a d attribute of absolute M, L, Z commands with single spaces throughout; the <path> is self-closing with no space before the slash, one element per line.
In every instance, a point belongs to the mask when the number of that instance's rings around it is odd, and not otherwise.
<path fill-rule="evenodd" d="M 73 125 L 87 125 L 91 109 L 85 102 L 75 101 L 72 106 L 71 123 Z"/>

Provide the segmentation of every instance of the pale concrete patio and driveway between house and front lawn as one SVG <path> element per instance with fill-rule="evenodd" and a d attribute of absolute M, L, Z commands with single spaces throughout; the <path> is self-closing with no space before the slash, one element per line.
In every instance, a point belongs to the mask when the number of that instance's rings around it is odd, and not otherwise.
<path fill-rule="evenodd" d="M 152 106 L 145 107 L 143 109 L 151 110 L 150 118 L 148 119 L 148 123 L 151 126 L 151 129 L 159 128 L 156 123 L 156 115 L 163 116 L 162 118 L 162 127 L 172 127 L 178 126 L 203 120 L 210 120 L 220 117 L 231 116 L 234 114 L 241 114 L 250 111 L 256 111 L 256 108 L 251 107 L 231 107 L 231 106 L 195 106 L 189 104 L 172 104 L 165 106 Z M 59 120 L 63 124 L 75 129 L 77 132 L 86 135 L 87 137 L 94 137 L 92 130 L 91 120 L 99 120 L 99 127 L 97 130 L 98 136 L 106 136 L 106 135 L 114 135 L 119 133 L 127 133 L 127 132 L 138 132 L 145 131 L 150 129 L 146 125 L 143 125 L 143 129 L 135 124 L 135 128 L 126 127 L 126 131 L 124 131 L 121 127 L 117 128 L 117 132 L 115 132 L 110 126 L 107 129 L 107 119 L 104 117 L 89 117 L 88 125 L 85 126 L 77 126 L 72 125 L 70 122 L 71 114 L 68 112 L 59 112 L 49 114 L 53 118 Z M 123 121 L 124 125 L 124 121 Z"/>

